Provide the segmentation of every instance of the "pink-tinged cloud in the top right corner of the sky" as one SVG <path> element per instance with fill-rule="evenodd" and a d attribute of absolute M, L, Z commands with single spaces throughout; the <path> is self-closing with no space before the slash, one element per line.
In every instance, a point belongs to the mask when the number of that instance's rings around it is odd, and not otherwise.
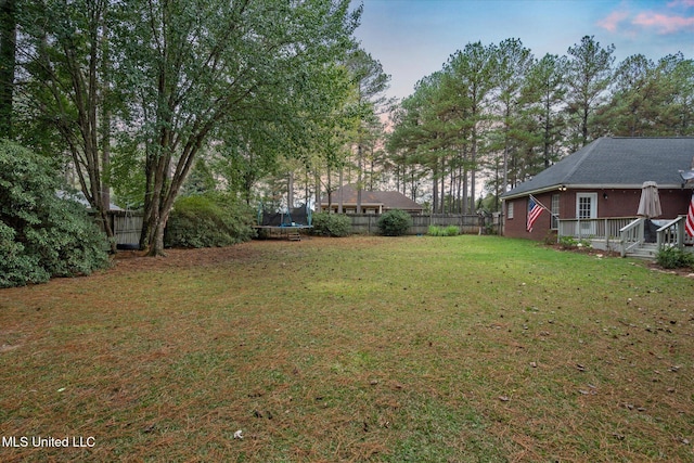
<path fill-rule="evenodd" d="M 634 11 L 630 5 L 640 4 L 622 3 L 597 25 L 611 33 L 629 36 L 651 31 L 658 35 L 694 31 L 694 12 L 690 11 L 694 9 L 694 0 L 674 0 L 645 11 Z"/>

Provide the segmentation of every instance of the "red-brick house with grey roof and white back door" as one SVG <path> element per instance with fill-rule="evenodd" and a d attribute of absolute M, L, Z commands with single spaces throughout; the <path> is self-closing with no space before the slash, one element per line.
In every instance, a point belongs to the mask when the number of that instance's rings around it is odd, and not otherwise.
<path fill-rule="evenodd" d="M 693 157 L 694 138 L 597 139 L 502 195 L 503 234 L 531 240 L 552 233 L 618 235 L 621 224 L 638 218 L 644 182 L 657 183 L 659 222 L 685 215 L 692 183 L 680 171 L 692 169 Z M 530 195 L 551 211 L 540 215 L 532 231 L 526 230 Z M 595 219 L 615 219 L 617 230 L 601 231 L 603 221 Z"/>

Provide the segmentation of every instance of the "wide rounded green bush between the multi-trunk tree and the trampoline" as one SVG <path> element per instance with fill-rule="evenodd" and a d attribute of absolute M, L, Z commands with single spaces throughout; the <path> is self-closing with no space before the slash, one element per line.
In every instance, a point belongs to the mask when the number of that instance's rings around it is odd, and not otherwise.
<path fill-rule="evenodd" d="M 180 197 L 164 233 L 166 247 L 221 247 L 253 236 L 253 210 L 231 195 L 209 192 Z"/>

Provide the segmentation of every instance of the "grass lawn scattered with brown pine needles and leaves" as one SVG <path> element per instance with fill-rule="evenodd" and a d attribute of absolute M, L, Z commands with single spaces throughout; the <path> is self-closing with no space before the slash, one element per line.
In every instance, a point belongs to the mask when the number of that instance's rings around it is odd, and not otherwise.
<path fill-rule="evenodd" d="M 0 346 L 3 462 L 694 460 L 694 279 L 528 241 L 118 259 L 0 290 Z"/>

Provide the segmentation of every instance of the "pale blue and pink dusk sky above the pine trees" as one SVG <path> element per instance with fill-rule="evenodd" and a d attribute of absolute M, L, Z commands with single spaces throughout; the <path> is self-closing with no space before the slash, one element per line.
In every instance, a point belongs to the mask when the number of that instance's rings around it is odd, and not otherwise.
<path fill-rule="evenodd" d="M 694 59 L 694 0 L 363 0 L 355 35 L 391 76 L 388 97 L 401 99 L 476 41 L 517 38 L 540 59 L 594 36 L 615 46 L 616 63 L 638 53 Z"/>

